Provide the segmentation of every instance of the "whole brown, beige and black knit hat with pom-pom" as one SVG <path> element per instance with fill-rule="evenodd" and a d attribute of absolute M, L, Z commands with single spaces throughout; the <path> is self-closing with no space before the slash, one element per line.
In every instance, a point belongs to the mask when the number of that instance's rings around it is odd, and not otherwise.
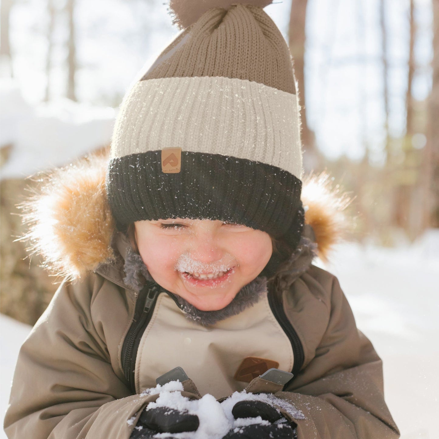
<path fill-rule="evenodd" d="M 270 3 L 171 1 L 183 31 L 115 123 L 106 189 L 120 230 L 219 219 L 299 242 L 298 99 L 287 43 L 262 9 Z"/>

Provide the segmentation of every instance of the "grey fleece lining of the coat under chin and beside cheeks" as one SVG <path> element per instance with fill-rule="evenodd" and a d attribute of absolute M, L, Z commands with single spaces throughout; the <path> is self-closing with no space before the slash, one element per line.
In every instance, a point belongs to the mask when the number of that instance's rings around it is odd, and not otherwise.
<path fill-rule="evenodd" d="M 274 277 L 277 286 L 288 288 L 297 277 L 309 268 L 316 255 L 317 244 L 302 236 L 298 247 L 291 254 L 291 257 L 279 266 Z M 123 281 L 129 288 L 137 292 L 142 289 L 146 281 L 154 281 L 141 256 L 132 249 L 127 252 L 124 272 L 125 277 Z M 242 287 L 227 306 L 217 311 L 201 311 L 182 297 L 176 295 L 176 298 L 188 320 L 192 320 L 202 326 L 211 326 L 220 320 L 225 320 L 228 317 L 241 313 L 249 306 L 255 305 L 266 291 L 266 286 L 266 277 L 256 277 L 253 281 Z"/>

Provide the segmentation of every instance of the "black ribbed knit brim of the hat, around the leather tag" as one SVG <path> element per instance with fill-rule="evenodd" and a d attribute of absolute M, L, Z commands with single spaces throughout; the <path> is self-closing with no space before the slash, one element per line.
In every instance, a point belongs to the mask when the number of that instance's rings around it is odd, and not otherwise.
<path fill-rule="evenodd" d="M 302 231 L 301 190 L 302 181 L 284 169 L 200 152 L 183 151 L 179 173 L 163 173 L 161 151 L 148 151 L 112 159 L 107 175 L 119 230 L 140 220 L 219 219 L 285 237 L 290 245 Z"/>

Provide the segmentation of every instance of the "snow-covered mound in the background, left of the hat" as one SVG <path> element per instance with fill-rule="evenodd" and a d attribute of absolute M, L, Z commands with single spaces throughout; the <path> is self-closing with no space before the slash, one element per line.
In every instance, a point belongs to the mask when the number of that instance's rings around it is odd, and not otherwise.
<path fill-rule="evenodd" d="M 24 178 L 64 166 L 110 144 L 115 110 L 66 98 L 31 107 L 12 80 L 0 88 L 0 145 L 12 144 L 1 178 Z"/>

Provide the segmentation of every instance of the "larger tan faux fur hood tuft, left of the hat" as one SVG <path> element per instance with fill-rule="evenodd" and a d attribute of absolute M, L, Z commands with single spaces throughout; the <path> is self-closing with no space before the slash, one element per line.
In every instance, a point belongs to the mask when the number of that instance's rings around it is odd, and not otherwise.
<path fill-rule="evenodd" d="M 79 278 L 114 259 L 115 222 L 107 202 L 108 157 L 94 155 L 31 179 L 32 195 L 21 205 L 31 254 L 55 276 Z"/>

